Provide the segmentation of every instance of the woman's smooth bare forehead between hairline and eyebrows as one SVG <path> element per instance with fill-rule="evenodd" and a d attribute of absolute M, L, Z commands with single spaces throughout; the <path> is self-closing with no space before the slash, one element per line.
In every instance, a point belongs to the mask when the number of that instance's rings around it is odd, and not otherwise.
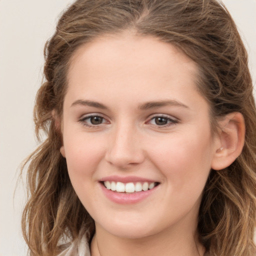
<path fill-rule="evenodd" d="M 189 101 L 197 93 L 197 72 L 196 63 L 182 50 L 158 38 L 128 32 L 105 35 L 83 44 L 72 56 L 67 94 L 91 99 L 97 93 L 138 103 Z"/>

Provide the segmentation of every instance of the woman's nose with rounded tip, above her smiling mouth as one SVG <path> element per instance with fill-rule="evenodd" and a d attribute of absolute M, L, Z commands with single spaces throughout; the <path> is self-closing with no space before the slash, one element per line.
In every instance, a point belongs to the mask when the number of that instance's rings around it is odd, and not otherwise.
<path fill-rule="evenodd" d="M 131 125 L 116 126 L 108 141 L 105 159 L 110 164 L 125 169 L 143 162 L 141 135 Z"/>

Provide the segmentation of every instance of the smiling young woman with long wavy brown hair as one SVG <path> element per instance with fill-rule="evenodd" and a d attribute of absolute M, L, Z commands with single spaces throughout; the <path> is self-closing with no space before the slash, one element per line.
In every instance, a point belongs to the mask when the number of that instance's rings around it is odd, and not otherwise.
<path fill-rule="evenodd" d="M 256 111 L 216 0 L 77 0 L 45 45 L 30 255 L 255 255 Z"/>

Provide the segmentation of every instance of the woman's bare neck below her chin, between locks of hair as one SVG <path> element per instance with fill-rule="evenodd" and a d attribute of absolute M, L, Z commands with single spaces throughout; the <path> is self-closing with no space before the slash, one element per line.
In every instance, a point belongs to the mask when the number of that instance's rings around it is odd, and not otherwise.
<path fill-rule="evenodd" d="M 91 256 L 202 256 L 204 247 L 192 232 L 161 231 L 143 238 L 124 238 L 100 226 L 90 245 Z"/>

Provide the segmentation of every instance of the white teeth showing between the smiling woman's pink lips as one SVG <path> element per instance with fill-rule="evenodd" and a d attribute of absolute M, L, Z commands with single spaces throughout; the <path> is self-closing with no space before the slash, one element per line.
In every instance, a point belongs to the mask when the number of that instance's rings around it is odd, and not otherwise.
<path fill-rule="evenodd" d="M 116 191 L 116 192 L 124 192 L 124 193 L 134 193 L 147 191 L 149 189 L 154 188 L 159 185 L 159 182 L 115 182 L 115 181 L 103 181 L 103 185 L 106 189 Z"/>

